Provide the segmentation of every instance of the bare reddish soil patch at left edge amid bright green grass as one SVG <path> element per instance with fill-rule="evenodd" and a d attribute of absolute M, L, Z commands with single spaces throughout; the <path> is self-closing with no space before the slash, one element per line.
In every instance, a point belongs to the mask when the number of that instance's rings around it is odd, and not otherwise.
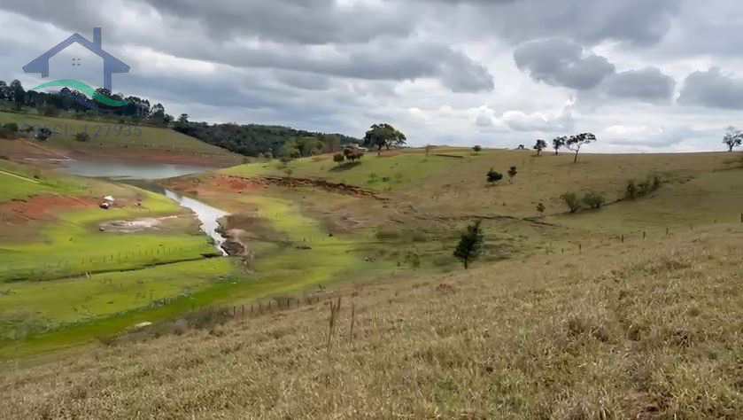
<path fill-rule="evenodd" d="M 98 204 L 97 198 L 37 196 L 0 203 L 0 219 L 13 224 L 51 221 L 56 219 L 56 214 L 61 211 L 97 208 Z"/>

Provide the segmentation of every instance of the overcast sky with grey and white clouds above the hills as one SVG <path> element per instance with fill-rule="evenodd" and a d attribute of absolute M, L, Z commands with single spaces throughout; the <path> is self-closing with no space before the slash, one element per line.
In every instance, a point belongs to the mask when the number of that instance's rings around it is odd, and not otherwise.
<path fill-rule="evenodd" d="M 0 80 L 35 86 L 22 66 L 103 27 L 132 67 L 114 90 L 197 121 L 493 147 L 592 131 L 592 152 L 722 150 L 743 126 L 738 0 L 3 0 L 0 25 Z M 101 85 L 86 53 L 51 78 Z"/>

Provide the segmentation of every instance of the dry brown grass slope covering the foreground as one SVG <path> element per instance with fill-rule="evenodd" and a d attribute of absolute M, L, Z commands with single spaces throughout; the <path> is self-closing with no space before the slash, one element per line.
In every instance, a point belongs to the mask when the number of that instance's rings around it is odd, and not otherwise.
<path fill-rule="evenodd" d="M 346 286 L 330 349 L 324 302 L 3 366 L 0 418 L 741 418 L 741 234 Z"/>

